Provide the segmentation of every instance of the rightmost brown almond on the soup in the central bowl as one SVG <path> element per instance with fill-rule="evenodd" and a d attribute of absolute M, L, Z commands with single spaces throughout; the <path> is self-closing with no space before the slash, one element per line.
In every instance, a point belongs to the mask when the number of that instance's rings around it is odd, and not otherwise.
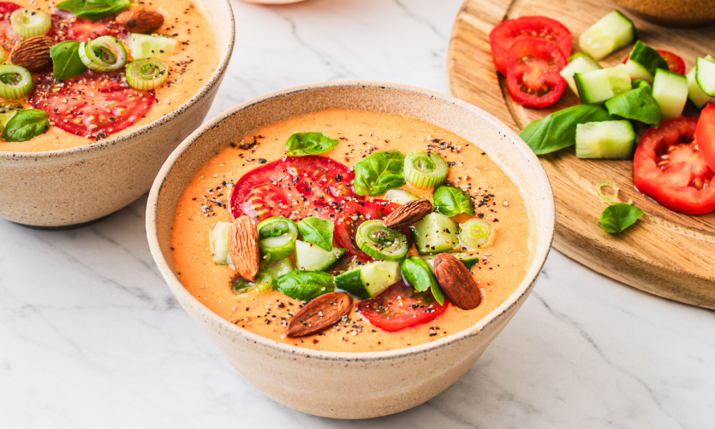
<path fill-rule="evenodd" d="M 449 300 L 463 310 L 472 310 L 482 302 L 482 293 L 467 267 L 448 253 L 435 257 L 435 277 Z"/>

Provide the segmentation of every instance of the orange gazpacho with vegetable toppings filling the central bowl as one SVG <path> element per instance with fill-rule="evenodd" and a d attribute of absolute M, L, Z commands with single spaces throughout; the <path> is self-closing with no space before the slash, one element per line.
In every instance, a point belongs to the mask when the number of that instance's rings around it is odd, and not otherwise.
<path fill-rule="evenodd" d="M 415 200 L 428 207 L 421 219 L 385 227 Z M 246 218 L 259 225 L 254 282 L 225 250 Z M 328 109 L 257 129 L 199 168 L 179 197 L 171 251 L 182 285 L 238 327 L 370 352 L 438 340 L 495 310 L 526 276 L 530 231 L 518 187 L 478 142 L 397 114 Z M 437 255 L 469 267 L 477 307 L 450 302 L 463 299 L 450 295 Z M 352 298 L 347 314 L 289 335 L 297 312 L 333 290 Z"/>

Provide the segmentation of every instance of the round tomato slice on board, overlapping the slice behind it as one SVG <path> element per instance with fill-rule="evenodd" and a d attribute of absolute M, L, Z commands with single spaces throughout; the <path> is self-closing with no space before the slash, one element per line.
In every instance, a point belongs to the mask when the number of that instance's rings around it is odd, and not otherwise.
<path fill-rule="evenodd" d="M 506 84 L 515 102 L 526 107 L 548 107 L 566 89 L 558 74 L 566 66 L 566 56 L 548 41 L 521 39 L 511 46 Z"/>

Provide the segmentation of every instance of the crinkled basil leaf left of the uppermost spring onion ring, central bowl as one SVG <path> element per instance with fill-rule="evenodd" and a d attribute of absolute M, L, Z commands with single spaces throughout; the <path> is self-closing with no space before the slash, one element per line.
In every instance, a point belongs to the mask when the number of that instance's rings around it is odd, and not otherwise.
<path fill-rule="evenodd" d="M 405 184 L 405 155 L 400 152 L 378 152 L 355 165 L 355 194 L 382 195 L 388 189 Z"/>

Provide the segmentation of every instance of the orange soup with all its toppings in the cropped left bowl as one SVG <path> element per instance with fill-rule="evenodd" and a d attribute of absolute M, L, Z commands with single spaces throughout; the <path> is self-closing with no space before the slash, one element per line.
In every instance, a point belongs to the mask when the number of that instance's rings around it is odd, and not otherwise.
<path fill-rule="evenodd" d="M 0 151 L 79 147 L 173 112 L 218 66 L 212 27 L 196 0 L 0 1 Z"/>

